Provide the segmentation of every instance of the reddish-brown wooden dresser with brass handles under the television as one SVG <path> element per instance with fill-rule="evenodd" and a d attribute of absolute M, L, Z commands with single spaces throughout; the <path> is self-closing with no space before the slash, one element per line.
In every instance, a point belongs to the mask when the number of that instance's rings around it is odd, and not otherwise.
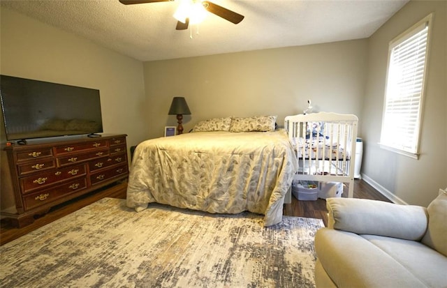
<path fill-rule="evenodd" d="M 23 227 L 52 206 L 129 176 L 126 135 L 12 145 L 8 156 L 15 208 L 1 211 Z"/>

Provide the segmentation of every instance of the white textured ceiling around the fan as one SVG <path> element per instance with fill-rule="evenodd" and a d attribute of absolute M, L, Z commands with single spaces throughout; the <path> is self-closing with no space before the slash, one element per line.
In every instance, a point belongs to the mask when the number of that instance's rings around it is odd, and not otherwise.
<path fill-rule="evenodd" d="M 199 26 L 177 31 L 172 17 L 177 1 L 126 6 L 118 0 L 0 0 L 1 8 L 141 61 L 367 38 L 408 0 L 212 2 L 244 20 L 236 25 L 209 13 Z"/>

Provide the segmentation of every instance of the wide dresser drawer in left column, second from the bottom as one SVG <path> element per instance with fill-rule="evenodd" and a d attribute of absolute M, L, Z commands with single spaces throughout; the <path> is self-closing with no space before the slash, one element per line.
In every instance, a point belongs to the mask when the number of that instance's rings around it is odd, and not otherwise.
<path fill-rule="evenodd" d="M 20 179 L 23 194 L 28 194 L 36 189 L 53 185 L 59 181 L 85 175 L 85 165 L 75 165 L 64 169 L 39 173 L 38 175 L 26 176 Z"/>

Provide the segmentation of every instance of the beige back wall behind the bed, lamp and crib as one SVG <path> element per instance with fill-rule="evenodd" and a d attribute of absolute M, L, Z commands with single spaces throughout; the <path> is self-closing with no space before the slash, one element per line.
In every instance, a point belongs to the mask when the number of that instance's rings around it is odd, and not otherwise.
<path fill-rule="evenodd" d="M 149 136 L 175 126 L 168 116 L 173 96 L 184 96 L 198 121 L 219 116 L 302 113 L 307 99 L 315 111 L 360 116 L 365 91 L 367 40 L 200 56 L 145 63 Z"/>

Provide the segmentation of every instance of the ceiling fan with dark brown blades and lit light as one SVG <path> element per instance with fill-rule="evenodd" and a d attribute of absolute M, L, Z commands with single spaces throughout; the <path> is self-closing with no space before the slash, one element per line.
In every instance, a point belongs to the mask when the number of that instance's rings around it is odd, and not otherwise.
<path fill-rule="evenodd" d="M 142 4 L 142 3 L 155 3 L 155 2 L 167 2 L 175 0 L 119 0 L 124 5 Z M 177 30 L 188 29 L 188 25 L 198 24 L 205 18 L 205 13 L 210 12 L 214 15 L 222 17 L 234 24 L 241 22 L 244 19 L 243 15 L 235 13 L 227 8 L 223 8 L 210 1 L 201 0 L 182 0 L 179 8 L 175 11 L 174 17 L 177 19 Z"/>

